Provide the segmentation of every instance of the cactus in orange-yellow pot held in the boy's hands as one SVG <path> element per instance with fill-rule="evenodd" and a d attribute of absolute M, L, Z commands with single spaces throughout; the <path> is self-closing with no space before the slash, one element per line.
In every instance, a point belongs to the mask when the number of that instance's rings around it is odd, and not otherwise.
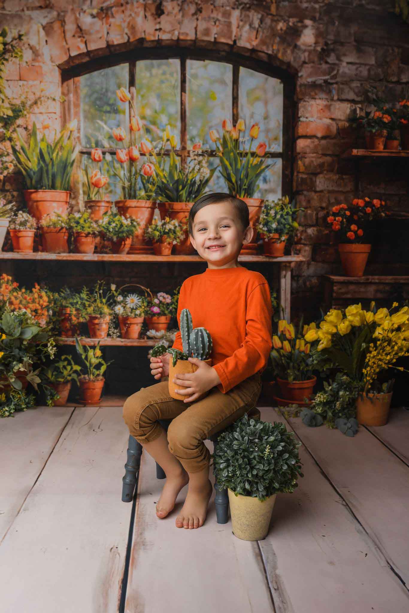
<path fill-rule="evenodd" d="M 183 308 L 180 313 L 180 334 L 183 351 L 174 347 L 166 350 L 173 357 L 169 361 L 169 394 L 176 400 L 184 400 L 185 396 L 177 393 L 177 388 L 173 383 L 174 376 L 179 373 L 194 373 L 198 368 L 196 364 L 189 362 L 189 357 L 197 357 L 212 366 L 212 359 L 209 357 L 213 346 L 210 332 L 205 328 L 193 328 L 192 316 L 188 308 Z M 208 392 L 209 390 L 204 392 L 197 400 L 202 400 Z"/>

